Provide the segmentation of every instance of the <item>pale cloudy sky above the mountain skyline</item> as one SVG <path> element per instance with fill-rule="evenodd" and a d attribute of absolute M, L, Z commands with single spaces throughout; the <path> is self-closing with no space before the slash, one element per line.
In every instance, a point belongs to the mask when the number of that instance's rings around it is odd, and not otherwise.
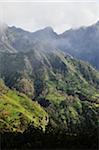
<path fill-rule="evenodd" d="M 32 32 L 51 26 L 62 33 L 97 20 L 99 0 L 0 0 L 0 22 Z"/>

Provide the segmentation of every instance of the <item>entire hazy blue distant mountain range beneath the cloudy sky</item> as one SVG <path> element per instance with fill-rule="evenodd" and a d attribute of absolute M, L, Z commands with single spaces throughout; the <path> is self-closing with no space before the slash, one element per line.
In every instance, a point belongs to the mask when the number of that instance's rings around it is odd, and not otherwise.
<path fill-rule="evenodd" d="M 21 28 L 7 27 L 0 38 L 0 51 L 27 52 L 34 47 L 43 51 L 59 49 L 89 62 L 99 69 L 99 22 L 89 27 L 70 29 L 57 34 L 51 27 L 36 32 L 24 31 Z"/>

